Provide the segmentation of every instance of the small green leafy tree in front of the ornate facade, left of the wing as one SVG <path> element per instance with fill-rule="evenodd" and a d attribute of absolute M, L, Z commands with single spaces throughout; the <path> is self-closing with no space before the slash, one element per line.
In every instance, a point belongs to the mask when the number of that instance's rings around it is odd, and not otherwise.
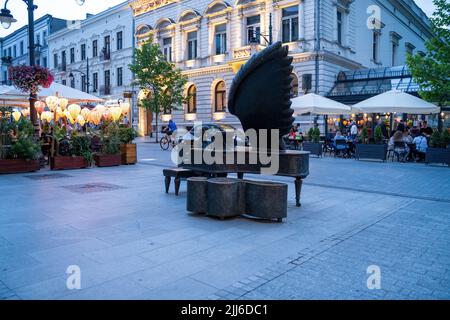
<path fill-rule="evenodd" d="M 181 108 L 185 100 L 184 86 L 187 77 L 165 59 L 159 44 L 153 43 L 151 39 L 135 49 L 135 61 L 128 67 L 135 75 L 135 83 L 140 89 L 149 92 L 139 106 L 155 113 L 158 142 L 159 114 Z"/>

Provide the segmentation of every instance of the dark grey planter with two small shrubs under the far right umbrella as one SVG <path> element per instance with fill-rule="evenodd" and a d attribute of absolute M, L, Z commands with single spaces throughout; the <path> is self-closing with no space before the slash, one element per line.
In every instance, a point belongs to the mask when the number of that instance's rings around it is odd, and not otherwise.
<path fill-rule="evenodd" d="M 364 128 L 366 129 L 366 128 Z M 360 142 L 356 144 L 355 158 L 360 159 L 373 159 L 386 161 L 387 144 L 384 143 L 383 132 L 381 127 L 377 126 L 374 132 L 374 144 L 369 143 L 367 138 L 367 129 L 361 131 Z M 364 134 L 363 134 L 364 132 Z"/>

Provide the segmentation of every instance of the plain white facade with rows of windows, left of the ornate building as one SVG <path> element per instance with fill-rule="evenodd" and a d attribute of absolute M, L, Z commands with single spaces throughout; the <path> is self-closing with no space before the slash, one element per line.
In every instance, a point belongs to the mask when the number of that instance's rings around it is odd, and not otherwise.
<path fill-rule="evenodd" d="M 106 100 L 132 91 L 133 16 L 126 2 L 73 22 L 48 42 L 56 82 Z"/>

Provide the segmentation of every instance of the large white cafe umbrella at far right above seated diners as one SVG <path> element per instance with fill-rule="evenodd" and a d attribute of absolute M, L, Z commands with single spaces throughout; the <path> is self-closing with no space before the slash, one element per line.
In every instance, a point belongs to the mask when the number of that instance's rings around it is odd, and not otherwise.
<path fill-rule="evenodd" d="M 364 113 L 430 114 L 440 111 L 438 106 L 399 90 L 376 95 L 355 104 L 353 108 Z"/>

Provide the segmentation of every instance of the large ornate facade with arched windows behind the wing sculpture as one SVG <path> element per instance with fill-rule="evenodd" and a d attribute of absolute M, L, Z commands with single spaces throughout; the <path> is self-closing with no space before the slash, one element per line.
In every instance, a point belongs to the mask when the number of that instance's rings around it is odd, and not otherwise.
<path fill-rule="evenodd" d="M 189 77 L 186 91 L 195 86 L 196 98 L 190 102 L 195 102 L 195 107 L 185 105 L 182 111 L 173 111 L 174 120 L 186 126 L 193 119 L 222 118 L 221 112 L 216 112 L 222 111 L 216 110 L 216 101 L 224 96 L 226 106 L 236 70 L 267 44 L 270 18 L 273 41 L 283 41 L 294 57 L 294 74 L 298 80 L 294 90 L 300 94 L 303 77 L 305 81 L 311 79 L 310 92 L 326 95 L 339 71 L 404 64 L 407 52 L 425 51 L 424 42 L 431 35 L 428 18 L 412 0 L 135 0 L 129 3 L 135 16 L 137 45 L 152 36 L 165 55 Z M 250 45 L 248 29 L 256 27 L 263 36 L 260 44 Z M 193 45 L 196 54 L 192 53 Z M 217 85 L 223 88 L 222 81 L 226 92 L 217 94 Z M 238 123 L 228 113 L 222 121 Z M 147 123 L 149 117 L 141 110 L 141 133 L 148 131 Z"/>

